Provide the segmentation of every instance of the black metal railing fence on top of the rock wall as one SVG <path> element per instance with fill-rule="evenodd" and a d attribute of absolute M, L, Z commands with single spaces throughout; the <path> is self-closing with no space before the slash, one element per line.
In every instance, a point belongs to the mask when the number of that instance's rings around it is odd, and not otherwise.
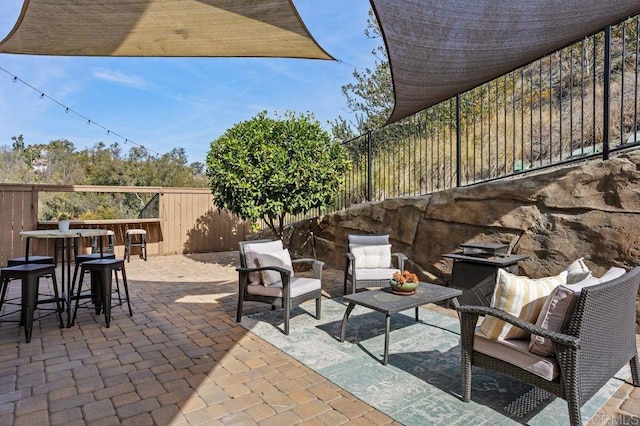
<path fill-rule="evenodd" d="M 322 213 L 590 156 L 607 159 L 637 145 L 639 33 L 639 17 L 629 18 L 345 142 L 352 167 L 335 205 Z"/>

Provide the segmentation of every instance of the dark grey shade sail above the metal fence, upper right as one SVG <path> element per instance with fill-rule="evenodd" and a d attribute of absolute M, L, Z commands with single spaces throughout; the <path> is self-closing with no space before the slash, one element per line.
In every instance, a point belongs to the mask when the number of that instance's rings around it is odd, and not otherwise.
<path fill-rule="evenodd" d="M 371 0 L 393 78 L 389 123 L 640 12 L 638 0 Z"/>

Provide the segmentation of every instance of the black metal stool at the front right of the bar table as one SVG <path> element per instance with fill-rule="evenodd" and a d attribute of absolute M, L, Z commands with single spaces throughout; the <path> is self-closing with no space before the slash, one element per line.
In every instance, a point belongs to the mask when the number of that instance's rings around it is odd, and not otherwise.
<path fill-rule="evenodd" d="M 125 298 L 124 301 L 127 302 L 127 307 L 129 308 L 129 316 L 133 316 L 133 312 L 131 311 L 131 302 L 129 299 L 129 286 L 127 285 L 127 274 L 124 270 L 124 260 L 123 259 L 96 259 L 89 260 L 80 264 L 80 277 L 78 282 L 78 291 L 76 294 L 76 307 L 73 311 L 73 317 L 71 322 L 69 323 L 69 327 L 71 327 L 76 321 L 76 315 L 78 313 L 78 305 L 80 303 L 80 299 L 82 296 L 82 283 L 84 281 L 84 276 L 86 273 L 91 273 L 91 294 L 90 297 L 92 302 L 94 303 L 94 307 L 96 310 L 96 315 L 100 315 L 100 310 L 104 310 L 104 319 L 109 328 L 111 323 L 111 294 L 113 292 L 113 277 L 115 276 L 116 282 L 118 281 L 118 271 L 122 274 L 122 283 L 124 286 Z M 120 285 L 118 284 L 118 297 L 119 303 L 118 305 L 123 304 L 123 299 L 120 297 Z M 84 296 L 89 297 L 89 296 Z M 114 306 L 118 306 L 114 305 Z"/>

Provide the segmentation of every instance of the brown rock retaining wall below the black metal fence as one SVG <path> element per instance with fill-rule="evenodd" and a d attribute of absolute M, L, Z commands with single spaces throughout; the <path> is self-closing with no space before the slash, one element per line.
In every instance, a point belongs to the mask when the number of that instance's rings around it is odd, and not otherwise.
<path fill-rule="evenodd" d="M 509 244 L 529 256 L 520 273 L 559 273 L 584 257 L 595 276 L 640 265 L 640 151 L 528 173 L 435 194 L 355 205 L 301 222 L 287 238 L 299 255 L 344 267 L 347 234 L 389 234 L 394 252 L 424 279 L 447 282 L 461 243 Z M 306 242 L 306 244 L 305 244 Z"/>

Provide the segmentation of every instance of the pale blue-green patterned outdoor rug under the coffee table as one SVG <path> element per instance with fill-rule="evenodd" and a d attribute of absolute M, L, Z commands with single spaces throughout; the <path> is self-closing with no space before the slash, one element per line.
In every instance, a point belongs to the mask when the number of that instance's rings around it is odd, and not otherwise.
<path fill-rule="evenodd" d="M 462 402 L 457 318 L 425 308 L 419 322 L 413 309 L 392 315 L 384 366 L 384 314 L 356 306 L 340 343 L 345 309 L 342 298 L 323 300 L 322 319 L 316 320 L 315 304 L 299 306 L 292 312 L 289 336 L 281 331 L 281 309 L 245 316 L 241 324 L 405 425 L 569 424 L 564 400 L 477 367 L 472 400 Z M 623 368 L 582 407 L 585 424 L 629 377 L 628 367 Z"/>

